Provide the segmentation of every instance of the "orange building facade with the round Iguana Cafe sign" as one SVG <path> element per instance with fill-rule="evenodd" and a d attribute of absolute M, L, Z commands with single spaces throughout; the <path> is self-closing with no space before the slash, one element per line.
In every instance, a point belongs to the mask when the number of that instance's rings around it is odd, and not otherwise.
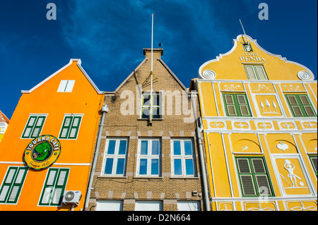
<path fill-rule="evenodd" d="M 83 209 L 103 99 L 80 59 L 22 91 L 0 145 L 0 211 Z"/>

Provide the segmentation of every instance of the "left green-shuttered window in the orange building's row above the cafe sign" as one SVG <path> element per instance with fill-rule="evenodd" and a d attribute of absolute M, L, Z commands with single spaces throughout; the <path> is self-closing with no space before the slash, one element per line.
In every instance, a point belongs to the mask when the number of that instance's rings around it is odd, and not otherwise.
<path fill-rule="evenodd" d="M 36 138 L 40 136 L 46 116 L 30 115 L 23 130 L 22 138 Z"/>

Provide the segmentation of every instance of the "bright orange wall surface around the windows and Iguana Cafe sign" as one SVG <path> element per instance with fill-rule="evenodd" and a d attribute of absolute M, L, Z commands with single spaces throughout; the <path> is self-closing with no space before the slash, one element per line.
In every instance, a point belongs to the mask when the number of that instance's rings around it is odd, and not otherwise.
<path fill-rule="evenodd" d="M 21 138 L 29 114 L 47 114 L 41 135 L 54 135 L 59 138 L 64 114 L 83 114 L 77 140 L 59 139 L 61 154 L 49 168 L 69 168 L 69 178 L 65 190 L 80 190 L 80 205 L 74 210 L 83 209 L 90 163 L 95 148 L 104 95 L 94 89 L 81 71 L 79 61 L 71 60 L 69 66 L 52 75 L 45 83 L 23 93 L 13 113 L 10 126 L 0 145 L 0 181 L 3 181 L 8 166 L 26 166 L 23 152 L 33 138 Z M 72 92 L 57 92 L 61 80 L 76 80 Z M 16 205 L 0 204 L 0 210 L 69 210 L 71 205 L 62 207 L 38 207 L 47 169 L 29 169 Z"/>

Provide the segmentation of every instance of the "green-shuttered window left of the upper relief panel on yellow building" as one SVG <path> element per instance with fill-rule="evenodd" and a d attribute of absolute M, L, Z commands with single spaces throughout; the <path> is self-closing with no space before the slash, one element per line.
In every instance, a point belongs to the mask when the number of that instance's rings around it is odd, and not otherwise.
<path fill-rule="evenodd" d="M 227 116 L 252 116 L 245 94 L 223 94 Z"/>

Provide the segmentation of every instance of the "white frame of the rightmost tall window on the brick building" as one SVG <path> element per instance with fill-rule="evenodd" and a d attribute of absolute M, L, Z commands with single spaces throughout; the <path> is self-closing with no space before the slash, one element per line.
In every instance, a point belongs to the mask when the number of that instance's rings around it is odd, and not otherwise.
<path fill-rule="evenodd" d="M 174 154 L 174 141 L 180 141 L 180 148 L 181 148 L 181 154 L 175 155 Z M 184 142 L 185 141 L 191 141 L 192 145 L 192 155 L 186 155 L 184 152 Z M 194 148 L 194 140 L 192 138 L 173 138 L 170 140 L 170 146 L 171 146 L 171 174 L 172 177 L 197 177 L 197 171 L 196 171 L 196 152 Z M 176 175 L 175 174 L 175 159 L 181 159 L 181 166 L 182 166 L 182 174 Z M 193 166 L 193 175 L 187 175 L 187 166 L 186 166 L 186 159 L 192 159 L 192 166 Z"/>

